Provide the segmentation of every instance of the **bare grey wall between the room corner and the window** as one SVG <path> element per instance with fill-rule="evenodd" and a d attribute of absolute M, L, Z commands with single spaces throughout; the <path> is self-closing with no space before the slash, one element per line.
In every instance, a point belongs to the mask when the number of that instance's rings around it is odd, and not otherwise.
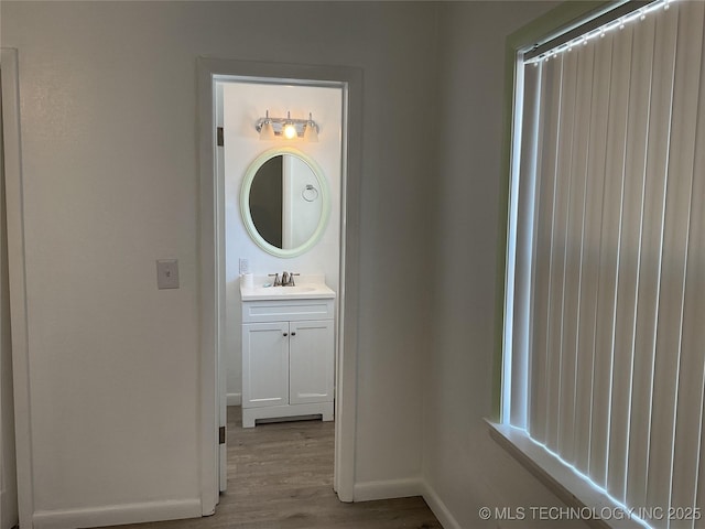
<path fill-rule="evenodd" d="M 502 141 L 505 39 L 551 2 L 441 6 L 437 224 L 432 252 L 434 350 L 424 399 L 424 478 L 451 515 L 447 527 L 545 529 L 530 507 L 562 505 L 488 433 Z M 527 519 L 480 520 L 478 510 L 525 508 Z M 516 510 L 512 510 L 516 514 Z M 455 523 L 455 525 L 453 525 Z M 561 528 L 584 528 L 563 519 Z"/>

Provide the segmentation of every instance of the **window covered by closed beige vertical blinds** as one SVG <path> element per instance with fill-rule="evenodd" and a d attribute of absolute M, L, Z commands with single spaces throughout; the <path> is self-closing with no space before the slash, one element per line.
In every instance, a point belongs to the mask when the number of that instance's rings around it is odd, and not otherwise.
<path fill-rule="evenodd" d="M 705 2 L 612 25 L 518 65 L 502 421 L 627 507 L 699 509 Z"/>

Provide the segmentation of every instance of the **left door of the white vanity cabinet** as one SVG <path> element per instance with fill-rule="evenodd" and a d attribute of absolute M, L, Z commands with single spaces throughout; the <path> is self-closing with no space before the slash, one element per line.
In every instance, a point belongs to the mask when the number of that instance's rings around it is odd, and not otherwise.
<path fill-rule="evenodd" d="M 242 408 L 289 403 L 289 323 L 242 325 Z"/>

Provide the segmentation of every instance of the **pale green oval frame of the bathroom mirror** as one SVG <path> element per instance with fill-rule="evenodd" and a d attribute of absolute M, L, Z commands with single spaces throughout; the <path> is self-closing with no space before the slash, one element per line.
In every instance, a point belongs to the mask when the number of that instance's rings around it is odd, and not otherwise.
<path fill-rule="evenodd" d="M 318 225 L 311 237 L 308 237 L 303 245 L 295 248 L 278 248 L 276 246 L 270 245 L 257 230 L 254 222 L 252 220 L 252 215 L 250 214 L 250 190 L 252 188 L 252 182 L 254 181 L 254 176 L 257 176 L 257 172 L 265 162 L 274 156 L 283 154 L 295 156 L 308 165 L 312 173 L 318 181 L 321 190 L 322 210 Z M 321 240 L 321 237 L 328 226 L 328 218 L 330 217 L 330 192 L 323 170 L 313 158 L 304 154 L 293 147 L 276 147 L 262 152 L 254 159 L 254 161 L 252 161 L 252 163 L 250 163 L 245 173 L 245 177 L 242 179 L 242 187 L 240 188 L 240 215 L 242 217 L 245 228 L 252 241 L 268 253 L 275 257 L 291 258 L 307 252 L 318 242 L 318 240 Z"/>

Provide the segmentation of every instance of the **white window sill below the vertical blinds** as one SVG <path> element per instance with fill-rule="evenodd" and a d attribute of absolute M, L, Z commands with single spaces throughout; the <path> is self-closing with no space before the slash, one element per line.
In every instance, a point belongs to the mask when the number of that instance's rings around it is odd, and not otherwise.
<path fill-rule="evenodd" d="M 550 521 L 579 519 L 586 526 L 599 529 L 644 529 L 644 527 L 650 527 L 630 517 L 623 506 L 616 504 L 557 457 L 534 443 L 525 432 L 489 420 L 487 423 L 490 436 L 571 509 L 570 512 L 558 512 L 547 511 L 547 509 L 539 510 L 542 506 L 534 506 L 535 509 L 528 507 L 524 511 L 527 519 L 535 518 Z M 543 516 L 549 518 L 543 518 Z"/>

